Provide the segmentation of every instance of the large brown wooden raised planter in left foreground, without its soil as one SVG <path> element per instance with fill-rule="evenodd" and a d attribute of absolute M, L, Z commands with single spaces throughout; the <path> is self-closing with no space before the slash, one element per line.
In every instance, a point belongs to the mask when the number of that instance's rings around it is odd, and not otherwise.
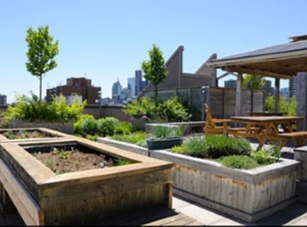
<path fill-rule="evenodd" d="M 26 151 L 71 144 L 135 163 L 56 175 Z M 172 207 L 170 162 L 84 138 L 0 143 L 0 151 L 1 186 L 26 225 L 81 225 L 153 207 Z"/>

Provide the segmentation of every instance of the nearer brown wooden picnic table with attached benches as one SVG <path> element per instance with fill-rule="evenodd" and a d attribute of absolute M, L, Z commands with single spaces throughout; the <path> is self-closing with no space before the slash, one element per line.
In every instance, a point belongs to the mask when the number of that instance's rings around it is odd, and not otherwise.
<path fill-rule="evenodd" d="M 271 144 L 276 141 L 284 146 L 289 139 L 293 140 L 294 146 L 303 146 L 307 138 L 307 131 L 294 132 L 292 124 L 298 120 L 304 119 L 298 116 L 232 116 L 232 121 L 245 124 L 244 131 L 227 130 L 229 134 L 247 138 L 256 138 L 259 141 L 260 149 L 266 140 Z M 278 125 L 282 124 L 287 132 L 278 131 Z"/>

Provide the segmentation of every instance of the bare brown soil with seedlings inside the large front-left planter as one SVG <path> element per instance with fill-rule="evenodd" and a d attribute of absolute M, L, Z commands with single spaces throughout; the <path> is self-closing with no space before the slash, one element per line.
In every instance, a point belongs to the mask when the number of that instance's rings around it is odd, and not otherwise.
<path fill-rule="evenodd" d="M 114 166 L 114 160 L 104 154 L 85 153 L 78 149 L 32 153 L 56 174 Z"/>

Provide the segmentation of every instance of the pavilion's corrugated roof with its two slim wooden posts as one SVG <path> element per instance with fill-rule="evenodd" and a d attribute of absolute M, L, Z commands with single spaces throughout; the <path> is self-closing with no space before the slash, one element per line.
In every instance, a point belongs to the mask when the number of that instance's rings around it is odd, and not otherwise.
<path fill-rule="evenodd" d="M 220 68 L 237 76 L 236 115 L 241 110 L 242 75 L 275 78 L 275 112 L 279 106 L 280 79 L 291 79 L 299 72 L 307 72 L 307 35 L 290 37 L 286 44 L 266 47 L 242 54 L 207 62 L 208 66 Z"/>

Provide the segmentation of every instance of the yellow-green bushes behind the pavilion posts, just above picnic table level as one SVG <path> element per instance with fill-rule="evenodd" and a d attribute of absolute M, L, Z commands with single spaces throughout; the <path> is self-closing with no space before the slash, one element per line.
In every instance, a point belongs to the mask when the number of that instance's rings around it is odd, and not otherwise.
<path fill-rule="evenodd" d="M 288 116 L 296 115 L 296 101 L 295 97 L 292 97 L 289 103 L 284 96 L 279 96 L 279 112 L 285 112 Z M 265 110 L 267 112 L 275 112 L 275 97 L 269 95 L 265 100 Z"/>

